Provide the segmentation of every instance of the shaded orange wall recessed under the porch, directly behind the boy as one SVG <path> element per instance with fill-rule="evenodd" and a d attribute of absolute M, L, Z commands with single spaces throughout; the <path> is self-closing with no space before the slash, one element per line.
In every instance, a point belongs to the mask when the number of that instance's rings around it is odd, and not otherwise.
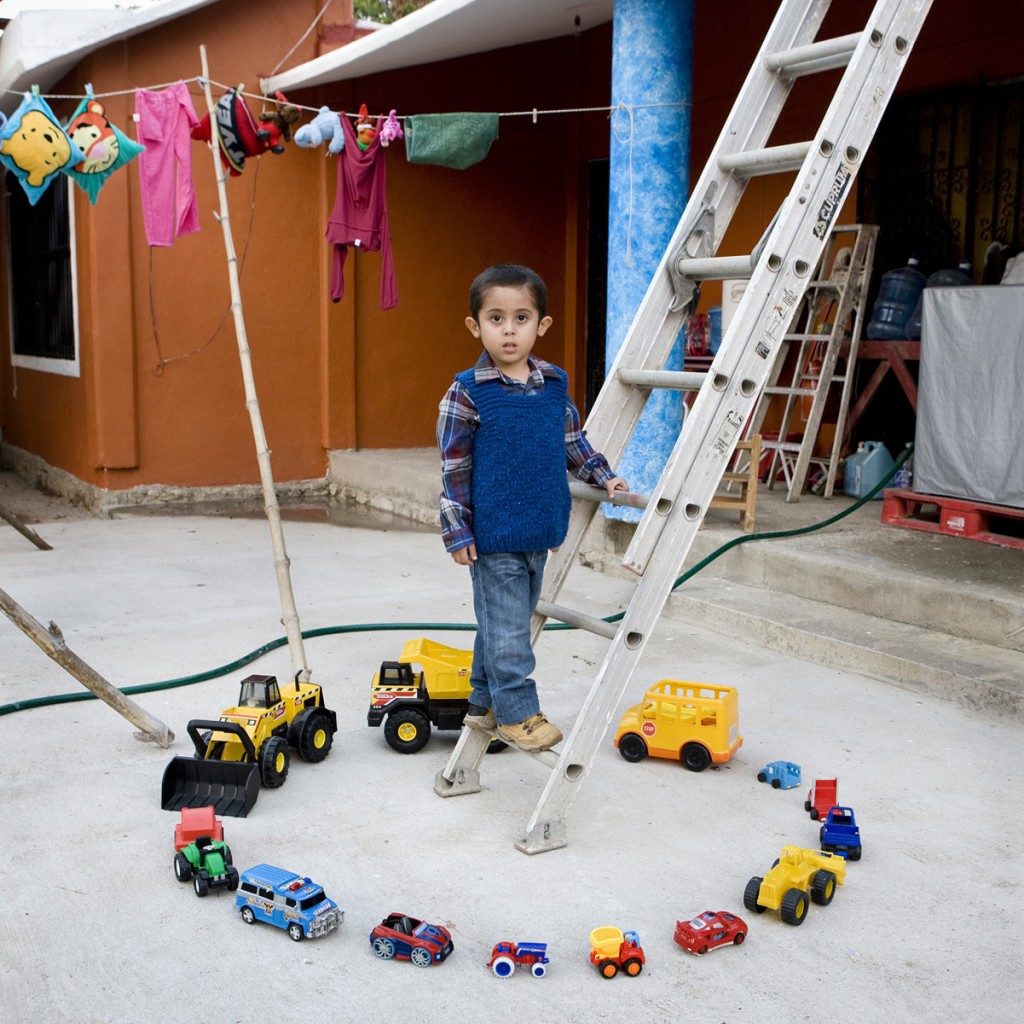
<path fill-rule="evenodd" d="M 328 103 L 399 114 L 508 112 L 607 102 L 607 27 L 579 39 L 468 56 L 443 66 L 374 76 L 296 93 Z M 463 171 L 414 165 L 401 143 L 388 155 L 388 216 L 400 294 L 378 303 L 380 259 L 349 257 L 347 285 L 357 324 L 348 353 L 356 380 L 352 409 L 360 447 L 433 442 L 437 401 L 478 343 L 465 328 L 472 279 L 485 266 L 528 263 L 551 289 L 554 328 L 539 354 L 577 372 L 584 334 L 579 296 L 581 174 L 607 153 L 604 114 L 502 118 L 486 160 Z M 334 180 L 329 182 L 334 195 Z M 346 296 L 343 305 L 349 303 Z M 332 316 L 335 316 L 332 313 Z M 341 445 L 338 445 L 341 446 Z"/>

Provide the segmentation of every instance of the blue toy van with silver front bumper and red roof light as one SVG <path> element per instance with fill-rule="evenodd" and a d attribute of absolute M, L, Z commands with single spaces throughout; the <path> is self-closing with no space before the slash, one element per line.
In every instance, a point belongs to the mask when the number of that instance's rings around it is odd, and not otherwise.
<path fill-rule="evenodd" d="M 272 864 L 257 864 L 242 872 L 234 905 L 247 925 L 257 921 L 275 925 L 296 942 L 333 932 L 345 916 L 322 886 Z"/>

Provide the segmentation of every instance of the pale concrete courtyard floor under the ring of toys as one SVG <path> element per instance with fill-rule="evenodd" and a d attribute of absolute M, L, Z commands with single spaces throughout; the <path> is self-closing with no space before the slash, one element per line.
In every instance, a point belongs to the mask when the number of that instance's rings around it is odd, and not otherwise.
<path fill-rule="evenodd" d="M 117 685 L 210 669 L 282 633 L 258 519 L 72 515 L 39 528 L 53 551 L 0 527 L 0 585 L 54 620 Z M 468 579 L 433 536 L 289 522 L 286 538 L 304 629 L 471 618 Z M 570 590 L 608 610 L 627 593 L 623 581 L 583 568 Z M 431 783 L 454 735 L 403 757 L 366 726 L 371 677 L 411 635 L 308 641 L 314 678 L 338 712 L 335 750 L 321 765 L 295 763 L 249 818 L 224 820 L 240 866 L 309 874 L 344 908 L 340 931 L 318 941 L 246 928 L 229 895 L 199 900 L 180 886 L 176 816 L 159 809 L 165 764 L 189 753 L 187 720 L 232 703 L 248 672 L 287 678 L 286 650 L 138 697 L 177 733 L 171 751 L 137 741 L 96 701 L 0 717 L 3 1020 L 1019 1019 L 1019 720 L 666 617 L 623 707 L 665 676 L 735 685 L 742 749 L 694 775 L 669 762 L 627 764 L 606 741 L 573 807 L 569 846 L 529 858 L 512 844 L 542 785 L 539 765 L 512 752 L 490 757 L 483 793 L 442 801 Z M 432 635 L 470 643 L 469 634 Z M 562 633 L 539 648 L 542 699 L 563 728 L 603 643 Z M 78 689 L 6 620 L 0 652 L 0 703 Z M 817 838 L 804 786 L 757 782 L 775 759 L 800 763 L 805 781 L 837 775 L 864 837 L 835 902 L 813 907 L 800 928 L 742 910 L 752 874 L 783 844 Z M 700 958 L 675 946 L 675 922 L 709 908 L 744 916 L 749 941 Z M 452 958 L 428 971 L 377 961 L 368 934 L 392 910 L 451 927 Z M 604 924 L 639 931 L 648 957 L 639 978 L 604 981 L 587 964 L 587 936 Z M 503 938 L 548 942 L 548 976 L 494 978 L 484 965 Z"/>

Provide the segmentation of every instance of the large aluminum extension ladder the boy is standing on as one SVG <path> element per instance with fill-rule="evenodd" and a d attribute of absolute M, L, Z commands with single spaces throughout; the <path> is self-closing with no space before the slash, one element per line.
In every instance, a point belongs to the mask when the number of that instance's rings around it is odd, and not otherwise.
<path fill-rule="evenodd" d="M 632 680 L 739 432 L 772 368 L 854 174 L 892 95 L 931 0 L 878 0 L 859 33 L 815 42 L 830 0 L 783 0 L 687 203 L 594 408 L 587 430 L 614 466 L 652 387 L 699 393 L 654 492 L 628 496 L 644 508 L 623 563 L 640 575 L 617 625 L 554 603 L 584 530 L 606 499 L 573 486 L 565 542 L 548 562 L 532 623 L 555 618 L 610 644 L 575 724 L 560 749 L 532 755 L 551 771 L 516 842 L 525 853 L 564 846 L 566 818 Z M 814 139 L 766 148 L 796 78 L 846 66 Z M 797 171 L 762 243 L 749 256 L 717 257 L 755 174 Z M 750 285 L 707 374 L 664 371 L 699 282 L 749 278 Z M 434 780 L 442 797 L 477 793 L 488 736 L 464 728 Z"/>

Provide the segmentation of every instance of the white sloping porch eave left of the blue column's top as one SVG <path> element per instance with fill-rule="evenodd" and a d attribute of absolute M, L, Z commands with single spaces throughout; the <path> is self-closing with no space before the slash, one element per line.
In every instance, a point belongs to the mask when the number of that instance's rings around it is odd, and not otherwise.
<path fill-rule="evenodd" d="M 371 36 L 263 79 L 262 89 L 300 89 L 571 36 L 610 22 L 611 13 L 612 0 L 433 0 Z"/>

